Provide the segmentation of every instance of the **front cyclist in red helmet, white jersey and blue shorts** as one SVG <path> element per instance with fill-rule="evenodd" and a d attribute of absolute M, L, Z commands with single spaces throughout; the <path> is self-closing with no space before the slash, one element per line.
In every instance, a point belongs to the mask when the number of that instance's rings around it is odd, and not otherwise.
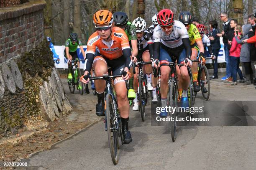
<path fill-rule="evenodd" d="M 189 74 L 187 66 L 192 66 L 190 60 L 191 47 L 189 36 L 185 25 L 178 20 L 174 20 L 172 10 L 164 9 L 157 14 L 158 26 L 154 29 L 154 67 L 159 67 L 160 63 L 169 63 L 176 61 L 184 63 L 180 69 L 177 69 L 177 74 L 182 83 L 182 107 L 188 107 L 187 90 L 189 87 Z M 187 63 L 185 63 L 187 59 Z M 159 65 L 156 66 L 156 60 L 159 60 Z M 169 66 L 161 66 L 161 107 L 166 106 L 167 92 L 168 92 L 168 79 L 170 74 Z M 181 87 L 179 87 L 181 88 Z M 160 117 L 166 117 L 167 112 L 160 113 Z"/>

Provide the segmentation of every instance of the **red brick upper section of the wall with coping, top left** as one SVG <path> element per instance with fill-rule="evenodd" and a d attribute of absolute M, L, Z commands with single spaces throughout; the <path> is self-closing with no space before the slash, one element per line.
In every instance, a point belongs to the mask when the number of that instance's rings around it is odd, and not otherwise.
<path fill-rule="evenodd" d="M 0 9 L 0 63 L 30 51 L 44 38 L 44 0 Z"/>

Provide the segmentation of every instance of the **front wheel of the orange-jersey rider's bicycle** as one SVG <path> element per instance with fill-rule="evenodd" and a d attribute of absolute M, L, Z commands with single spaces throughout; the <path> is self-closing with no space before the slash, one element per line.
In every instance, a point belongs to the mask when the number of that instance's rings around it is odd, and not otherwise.
<path fill-rule="evenodd" d="M 118 131 L 115 129 L 115 107 L 110 94 L 106 95 L 106 124 L 108 129 L 108 145 L 114 165 L 118 163 Z"/>

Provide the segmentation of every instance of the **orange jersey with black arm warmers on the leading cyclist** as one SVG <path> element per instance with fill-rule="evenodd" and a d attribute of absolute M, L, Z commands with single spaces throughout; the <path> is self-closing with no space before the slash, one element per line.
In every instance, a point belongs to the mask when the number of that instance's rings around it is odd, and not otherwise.
<path fill-rule="evenodd" d="M 96 47 L 100 54 L 113 60 L 121 56 L 126 58 L 125 67 L 129 68 L 129 63 L 131 61 L 131 48 L 129 46 L 128 37 L 124 30 L 118 27 L 112 28 L 111 41 L 105 41 L 100 37 L 98 31 L 93 33 L 87 42 L 87 53 L 86 53 L 86 63 L 85 69 L 90 72 L 92 67 L 93 58 L 95 57 Z"/>

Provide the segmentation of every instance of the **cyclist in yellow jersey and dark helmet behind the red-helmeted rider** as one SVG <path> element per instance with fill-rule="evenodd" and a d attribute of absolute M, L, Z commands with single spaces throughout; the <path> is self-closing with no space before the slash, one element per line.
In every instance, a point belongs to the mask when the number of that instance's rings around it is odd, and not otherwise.
<path fill-rule="evenodd" d="M 204 58 L 205 48 L 204 48 L 204 45 L 202 44 L 202 39 L 197 27 L 191 24 L 192 19 L 193 19 L 192 15 L 187 11 L 182 11 L 179 14 L 179 21 L 186 26 L 187 33 L 189 35 L 190 46 L 192 48 L 191 59 L 196 60 L 198 56 L 198 52 L 200 52 L 199 57 L 202 57 L 202 62 L 205 63 L 205 58 Z M 197 74 L 198 74 L 197 66 L 198 66 L 198 63 L 193 63 L 191 67 L 195 92 L 200 91 L 200 86 L 198 85 L 198 82 L 197 82 Z"/>

